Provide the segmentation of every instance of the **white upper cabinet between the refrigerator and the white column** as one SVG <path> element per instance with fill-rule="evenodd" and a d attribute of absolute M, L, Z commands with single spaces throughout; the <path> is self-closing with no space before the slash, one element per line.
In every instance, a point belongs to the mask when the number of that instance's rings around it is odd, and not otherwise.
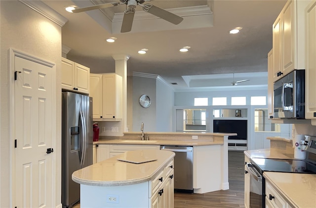
<path fill-rule="evenodd" d="M 94 121 L 122 119 L 122 77 L 115 73 L 90 74 Z"/>

